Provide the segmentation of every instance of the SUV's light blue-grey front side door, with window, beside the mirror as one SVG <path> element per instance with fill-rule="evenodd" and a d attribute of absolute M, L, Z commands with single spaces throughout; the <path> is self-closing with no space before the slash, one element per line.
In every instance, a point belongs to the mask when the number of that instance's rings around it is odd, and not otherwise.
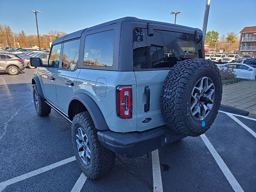
<path fill-rule="evenodd" d="M 52 46 L 50 52 L 49 64 L 46 68 L 39 68 L 38 72 L 42 80 L 42 90 L 44 97 L 50 103 L 58 106 L 57 94 L 56 94 L 56 75 L 59 73 L 61 44 Z"/>

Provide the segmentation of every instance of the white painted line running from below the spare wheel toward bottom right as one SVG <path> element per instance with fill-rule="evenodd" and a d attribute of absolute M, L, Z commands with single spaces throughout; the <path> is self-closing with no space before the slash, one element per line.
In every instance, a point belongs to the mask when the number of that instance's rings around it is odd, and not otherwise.
<path fill-rule="evenodd" d="M 206 147 L 209 149 L 210 153 L 212 154 L 213 158 L 217 162 L 218 166 L 222 170 L 223 174 L 227 178 L 228 182 L 232 186 L 235 192 L 244 192 L 240 184 L 237 182 L 236 178 L 233 176 L 231 171 L 228 169 L 228 166 L 225 164 L 225 162 L 222 160 L 218 152 L 214 149 L 208 138 L 205 134 L 201 135 L 202 140 L 204 141 Z"/>

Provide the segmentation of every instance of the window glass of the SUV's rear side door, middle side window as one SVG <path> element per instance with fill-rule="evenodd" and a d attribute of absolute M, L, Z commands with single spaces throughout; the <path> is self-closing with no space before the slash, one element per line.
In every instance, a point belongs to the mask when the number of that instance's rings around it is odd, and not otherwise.
<path fill-rule="evenodd" d="M 62 69 L 74 70 L 78 65 L 80 39 L 64 43 Z"/>

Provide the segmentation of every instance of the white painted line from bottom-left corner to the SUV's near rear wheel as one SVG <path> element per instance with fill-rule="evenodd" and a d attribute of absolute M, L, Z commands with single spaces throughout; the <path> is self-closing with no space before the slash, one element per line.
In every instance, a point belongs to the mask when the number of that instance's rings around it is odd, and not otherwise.
<path fill-rule="evenodd" d="M 72 161 L 74 161 L 74 160 L 76 160 L 75 156 L 70 157 L 70 158 L 67 158 L 67 159 L 64 159 L 64 160 L 59 161 L 59 162 L 56 162 L 56 163 L 54 163 L 54 164 L 48 165 L 48 166 L 46 166 L 46 167 L 43 167 L 43 168 L 40 168 L 40 169 L 31 171 L 31 172 L 29 172 L 29 173 L 26 173 L 26 174 L 23 174 L 23 175 L 14 177 L 14 178 L 9 179 L 9 180 L 7 180 L 7 181 L 4 181 L 4 182 L 0 183 L 0 192 L 1 192 L 2 190 L 4 190 L 4 188 L 6 188 L 8 185 L 14 184 L 14 183 L 16 183 L 16 182 L 20 182 L 20 181 L 25 180 L 25 179 L 27 179 L 27 178 L 30 178 L 30 177 L 32 177 L 32 176 L 36 176 L 36 175 L 38 175 L 38 174 L 40 174 L 40 173 L 43 173 L 43 172 L 46 172 L 46 171 L 51 170 L 51 169 L 53 169 L 53 168 L 56 168 L 56 167 L 58 167 L 58 166 L 67 164 L 67 163 L 72 162 Z"/>

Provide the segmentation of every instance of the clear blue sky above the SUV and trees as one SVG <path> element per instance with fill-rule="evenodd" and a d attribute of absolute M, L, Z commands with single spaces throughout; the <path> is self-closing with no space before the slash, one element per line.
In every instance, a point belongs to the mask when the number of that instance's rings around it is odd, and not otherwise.
<path fill-rule="evenodd" d="M 71 33 L 88 26 L 125 16 L 174 23 L 202 29 L 206 0 L 0 0 L 0 24 L 14 32 L 36 34 L 34 13 L 40 10 L 40 34 L 50 30 Z M 244 26 L 256 26 L 256 0 L 211 0 L 207 31 L 239 33 Z"/>

